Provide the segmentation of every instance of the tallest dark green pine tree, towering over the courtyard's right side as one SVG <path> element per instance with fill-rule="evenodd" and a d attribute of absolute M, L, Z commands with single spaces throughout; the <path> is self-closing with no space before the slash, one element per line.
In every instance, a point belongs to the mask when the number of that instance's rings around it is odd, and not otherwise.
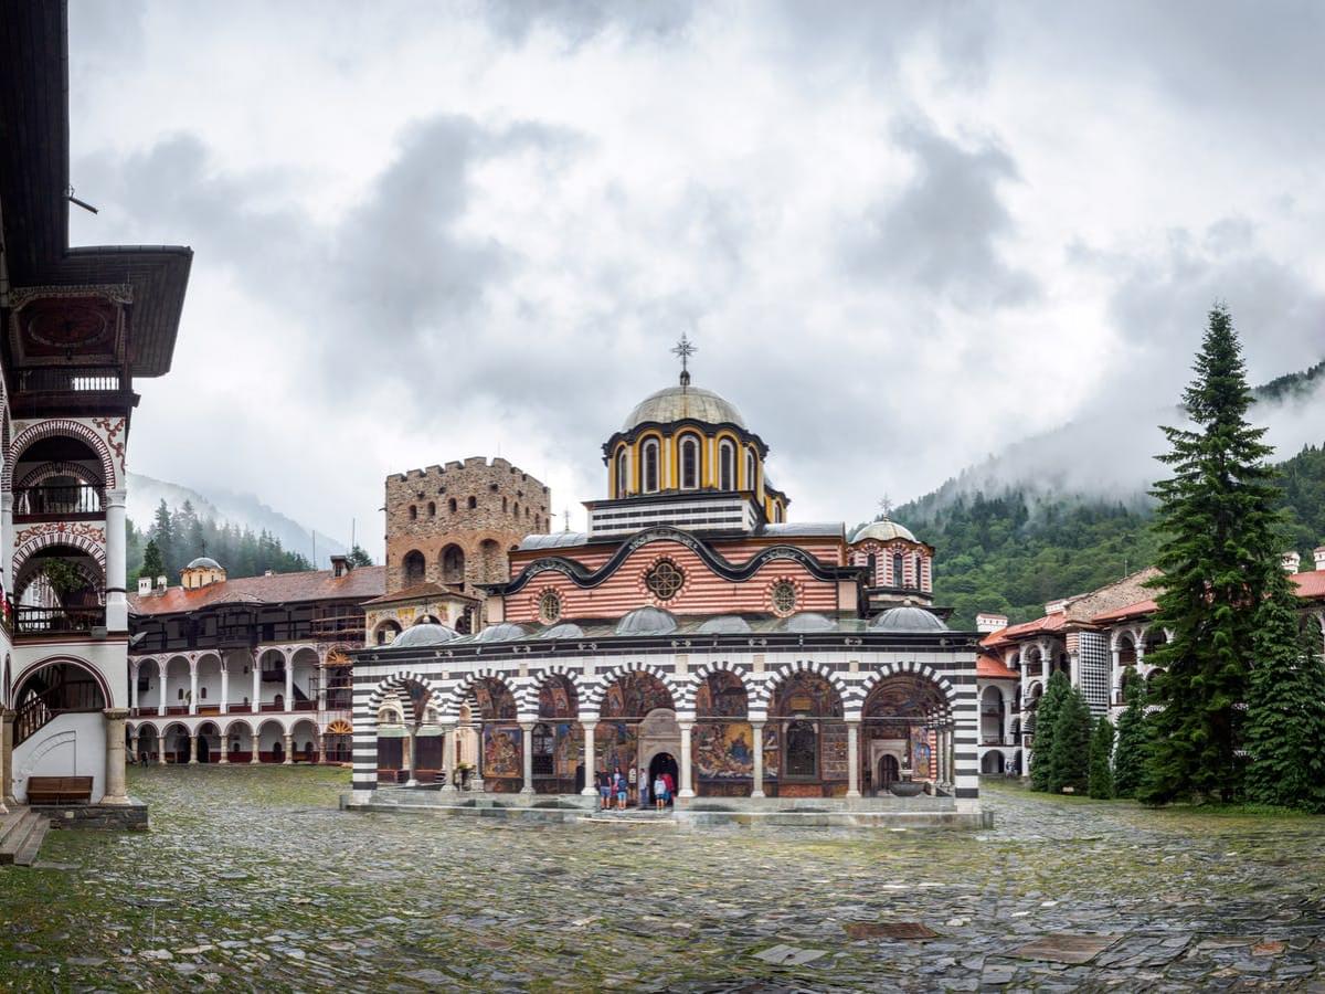
<path fill-rule="evenodd" d="M 1151 492 L 1163 573 L 1155 624 L 1173 637 L 1149 657 L 1159 668 L 1159 709 L 1149 718 L 1154 737 L 1138 793 L 1146 803 L 1239 793 L 1238 705 L 1247 700 L 1267 567 L 1279 569 L 1272 449 L 1247 421 L 1252 395 L 1223 306 L 1210 313 L 1194 368 L 1183 395 L 1192 428 L 1163 429 L 1171 451 L 1159 459 L 1174 476 Z"/>

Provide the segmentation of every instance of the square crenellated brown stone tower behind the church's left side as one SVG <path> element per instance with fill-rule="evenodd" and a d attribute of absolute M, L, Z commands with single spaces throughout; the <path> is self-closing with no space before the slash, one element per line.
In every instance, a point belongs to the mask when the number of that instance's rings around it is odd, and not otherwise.
<path fill-rule="evenodd" d="M 547 486 L 505 459 L 473 456 L 387 477 L 387 594 L 509 578 L 509 553 L 549 531 Z"/>

